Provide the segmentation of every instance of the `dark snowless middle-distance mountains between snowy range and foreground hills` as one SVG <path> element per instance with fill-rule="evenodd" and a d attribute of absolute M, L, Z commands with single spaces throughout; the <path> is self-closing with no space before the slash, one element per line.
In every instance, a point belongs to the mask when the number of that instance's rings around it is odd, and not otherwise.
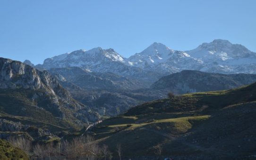
<path fill-rule="evenodd" d="M 116 116 L 148 101 L 184 94 L 237 88 L 256 81 L 254 74 L 220 74 L 184 70 L 163 76 L 150 88 L 111 72 L 88 72 L 79 67 L 48 70 L 79 102 L 101 115 Z M 141 89 L 138 89 L 141 88 Z"/>

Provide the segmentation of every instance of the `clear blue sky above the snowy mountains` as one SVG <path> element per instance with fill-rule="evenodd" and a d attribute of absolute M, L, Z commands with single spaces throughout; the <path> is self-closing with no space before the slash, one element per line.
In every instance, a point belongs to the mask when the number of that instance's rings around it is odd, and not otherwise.
<path fill-rule="evenodd" d="M 0 0 L 0 57 L 34 64 L 77 49 L 128 57 L 214 39 L 256 52 L 256 0 Z"/>

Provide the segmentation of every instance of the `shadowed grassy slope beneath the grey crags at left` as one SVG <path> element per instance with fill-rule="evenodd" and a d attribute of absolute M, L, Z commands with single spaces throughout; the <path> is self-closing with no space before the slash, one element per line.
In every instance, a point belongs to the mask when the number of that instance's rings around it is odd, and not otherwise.
<path fill-rule="evenodd" d="M 0 117 L 12 121 L 21 121 L 24 125 L 47 128 L 51 131 L 76 128 L 68 120 L 56 118 L 51 112 L 33 103 L 30 96 L 34 92 L 38 93 L 39 91 L 0 89 Z M 43 101 L 40 103 L 43 105 Z"/>

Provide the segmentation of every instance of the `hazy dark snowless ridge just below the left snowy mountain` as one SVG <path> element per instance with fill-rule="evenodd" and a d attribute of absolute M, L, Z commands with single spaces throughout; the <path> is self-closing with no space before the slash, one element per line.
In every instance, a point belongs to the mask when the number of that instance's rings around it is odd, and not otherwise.
<path fill-rule="evenodd" d="M 52 68 L 48 70 L 52 75 L 64 82 L 72 82 L 83 89 L 137 89 L 143 85 L 112 72 L 88 72 L 79 67 Z"/>

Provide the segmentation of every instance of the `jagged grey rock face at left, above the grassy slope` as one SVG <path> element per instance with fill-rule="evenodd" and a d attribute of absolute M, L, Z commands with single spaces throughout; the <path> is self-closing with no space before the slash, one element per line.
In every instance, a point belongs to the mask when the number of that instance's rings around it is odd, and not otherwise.
<path fill-rule="evenodd" d="M 84 112 L 81 123 L 99 119 L 89 107 L 77 103 L 49 72 L 38 71 L 19 61 L 0 58 L 0 89 L 23 91 L 26 94 L 24 98 L 29 98 L 35 106 L 62 119 L 70 117 L 70 114 L 76 117 L 75 113 L 81 110 Z"/>

